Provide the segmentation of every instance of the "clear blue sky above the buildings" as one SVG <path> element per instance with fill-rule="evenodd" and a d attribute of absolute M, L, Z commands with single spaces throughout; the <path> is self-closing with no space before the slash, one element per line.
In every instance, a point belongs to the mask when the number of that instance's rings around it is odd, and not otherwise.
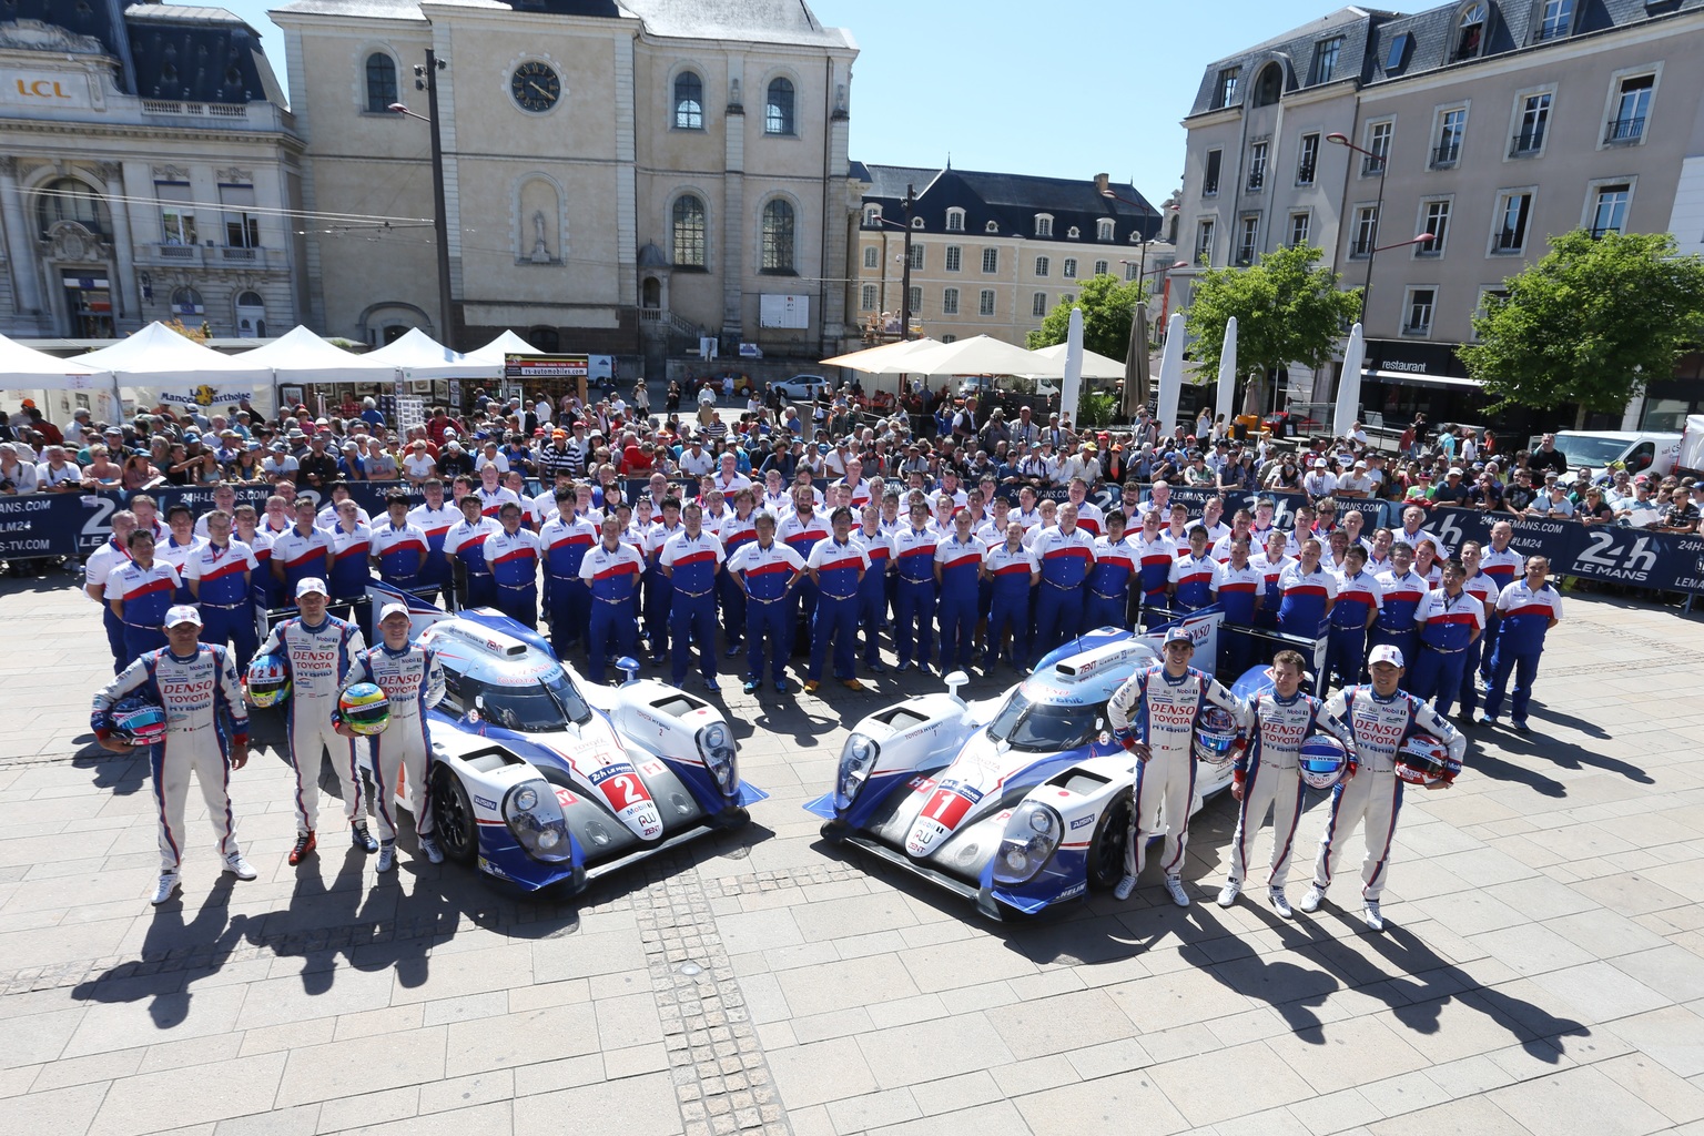
<path fill-rule="evenodd" d="M 690 3 L 692 0 L 682 0 Z M 283 75 L 276 0 L 225 0 Z M 1183 175 L 1201 70 L 1334 10 L 1331 0 L 811 0 L 852 29 L 852 157 L 891 165 L 1130 179 L 1154 203 Z"/>

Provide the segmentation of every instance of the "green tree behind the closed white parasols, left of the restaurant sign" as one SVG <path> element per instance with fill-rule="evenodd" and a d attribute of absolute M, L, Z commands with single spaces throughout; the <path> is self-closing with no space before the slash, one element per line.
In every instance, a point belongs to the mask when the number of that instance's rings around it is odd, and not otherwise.
<path fill-rule="evenodd" d="M 1361 293 L 1343 291 L 1339 276 L 1319 267 L 1321 250 L 1278 249 L 1252 267 L 1203 273 L 1189 300 L 1191 358 L 1205 375 L 1218 373 L 1225 324 L 1237 317 L 1237 370 L 1244 375 L 1300 363 L 1319 370 L 1355 322 Z"/>

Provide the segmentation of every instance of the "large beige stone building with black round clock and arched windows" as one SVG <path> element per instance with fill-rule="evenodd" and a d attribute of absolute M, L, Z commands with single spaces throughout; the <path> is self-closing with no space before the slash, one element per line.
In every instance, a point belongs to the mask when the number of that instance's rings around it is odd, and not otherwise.
<path fill-rule="evenodd" d="M 315 327 L 659 356 L 842 342 L 852 37 L 797 0 L 298 0 Z M 450 238 L 441 327 L 431 48 Z M 389 218 L 389 221 L 387 221 Z"/>

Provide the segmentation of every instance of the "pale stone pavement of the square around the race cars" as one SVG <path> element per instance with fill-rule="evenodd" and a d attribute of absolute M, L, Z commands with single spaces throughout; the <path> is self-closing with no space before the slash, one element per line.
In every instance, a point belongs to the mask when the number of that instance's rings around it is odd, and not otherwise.
<path fill-rule="evenodd" d="M 1455 789 L 1409 795 L 1385 935 L 1213 906 L 1229 800 L 1191 829 L 1188 909 L 1148 879 L 993 925 L 825 846 L 799 804 L 891 674 L 728 693 L 755 823 L 578 903 L 407 835 L 383 881 L 334 829 L 290 869 L 264 724 L 232 780 L 261 879 L 218 875 L 193 794 L 155 911 L 147 770 L 87 732 L 94 610 L 9 582 L 0 1133 L 1704 1133 L 1704 634 L 1602 596 L 1568 617 L 1537 732 L 1476 731 Z M 1321 824 L 1315 800 L 1304 860 Z"/>

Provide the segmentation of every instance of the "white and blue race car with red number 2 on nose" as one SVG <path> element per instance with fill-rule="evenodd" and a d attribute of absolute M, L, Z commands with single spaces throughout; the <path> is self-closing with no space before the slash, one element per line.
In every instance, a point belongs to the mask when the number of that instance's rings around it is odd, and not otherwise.
<path fill-rule="evenodd" d="M 409 637 L 443 664 L 445 698 L 428 714 L 428 734 L 429 807 L 446 857 L 523 891 L 579 892 L 745 824 L 746 806 L 769 795 L 740 780 L 733 729 L 711 703 L 632 671 L 622 686 L 586 683 L 537 632 L 489 608 L 448 615 L 378 584 L 370 591 L 406 601 Z"/>

